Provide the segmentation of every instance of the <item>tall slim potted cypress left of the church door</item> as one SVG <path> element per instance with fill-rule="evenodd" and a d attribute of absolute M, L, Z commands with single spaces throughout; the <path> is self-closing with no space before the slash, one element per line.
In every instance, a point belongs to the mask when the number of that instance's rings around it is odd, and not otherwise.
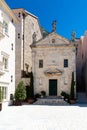
<path fill-rule="evenodd" d="M 33 85 L 33 73 L 30 73 L 30 86 L 29 86 L 29 95 L 28 95 L 28 103 L 32 104 L 34 102 L 34 85 Z"/>

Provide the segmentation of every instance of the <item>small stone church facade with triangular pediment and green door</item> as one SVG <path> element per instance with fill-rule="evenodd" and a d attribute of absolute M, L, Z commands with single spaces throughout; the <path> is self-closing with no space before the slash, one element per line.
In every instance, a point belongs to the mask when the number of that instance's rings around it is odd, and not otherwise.
<path fill-rule="evenodd" d="M 66 38 L 50 33 L 32 44 L 34 93 L 45 91 L 47 96 L 70 94 L 72 72 L 76 82 L 75 46 Z"/>

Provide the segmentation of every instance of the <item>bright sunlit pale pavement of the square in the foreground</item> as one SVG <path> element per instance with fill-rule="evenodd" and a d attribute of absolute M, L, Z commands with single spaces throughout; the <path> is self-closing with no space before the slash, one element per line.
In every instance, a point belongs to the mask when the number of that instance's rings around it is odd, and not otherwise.
<path fill-rule="evenodd" d="M 9 106 L 0 112 L 0 130 L 87 130 L 87 105 Z"/>

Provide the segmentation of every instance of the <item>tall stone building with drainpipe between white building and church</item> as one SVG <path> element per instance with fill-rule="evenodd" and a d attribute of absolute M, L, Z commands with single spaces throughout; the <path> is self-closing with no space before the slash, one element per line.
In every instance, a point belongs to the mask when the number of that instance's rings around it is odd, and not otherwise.
<path fill-rule="evenodd" d="M 29 85 L 29 72 L 32 69 L 32 55 L 30 45 L 32 44 L 32 35 L 37 35 L 37 41 L 42 38 L 38 18 L 19 8 L 13 9 L 13 12 L 19 19 L 16 25 L 16 86 L 23 80 L 25 85 Z"/>

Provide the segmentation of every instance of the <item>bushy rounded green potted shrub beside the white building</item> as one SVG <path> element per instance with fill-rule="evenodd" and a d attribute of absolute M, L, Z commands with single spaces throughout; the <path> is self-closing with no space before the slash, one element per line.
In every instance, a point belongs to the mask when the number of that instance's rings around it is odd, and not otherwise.
<path fill-rule="evenodd" d="M 26 87 L 23 81 L 20 81 L 15 90 L 15 104 L 22 105 L 22 101 L 26 99 Z"/>

